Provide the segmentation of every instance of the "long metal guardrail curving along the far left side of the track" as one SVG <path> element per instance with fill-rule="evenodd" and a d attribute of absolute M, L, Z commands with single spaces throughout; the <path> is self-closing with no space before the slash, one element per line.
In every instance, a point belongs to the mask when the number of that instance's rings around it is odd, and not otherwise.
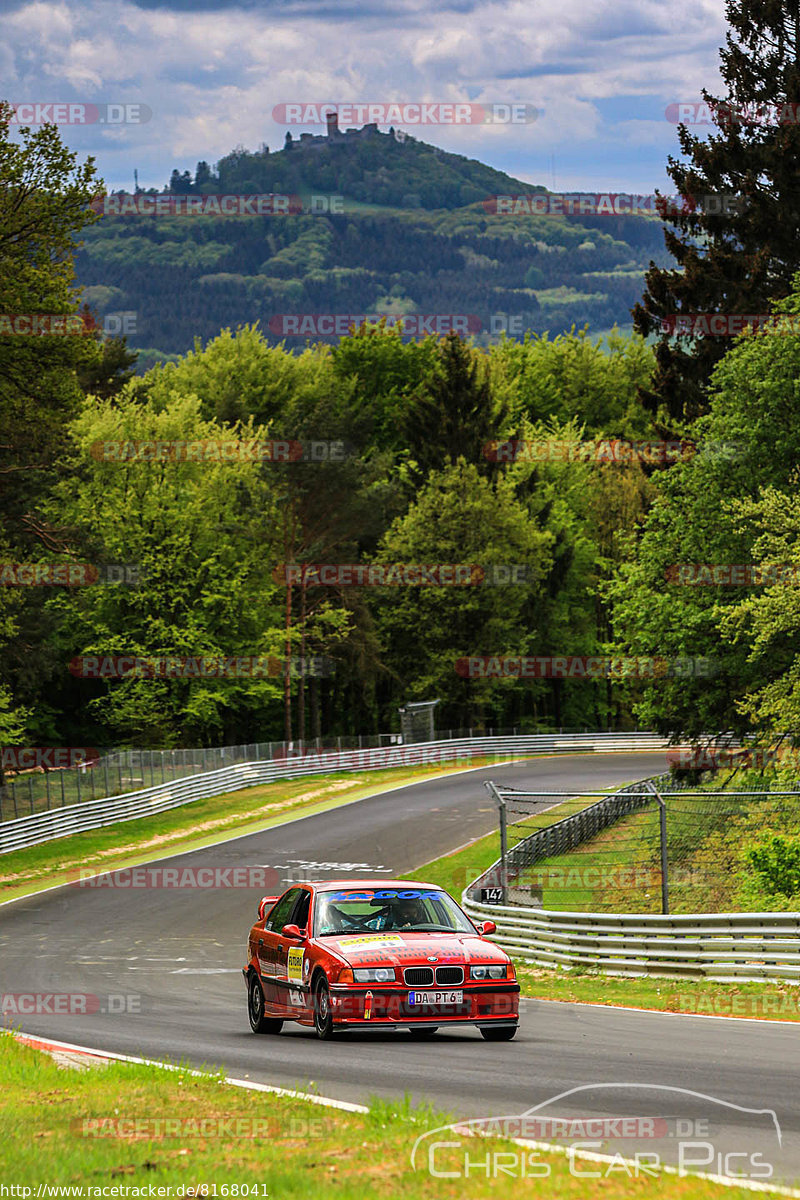
<path fill-rule="evenodd" d="M 666 750 L 668 744 L 667 738 L 655 733 L 535 733 L 513 737 L 451 738 L 446 742 L 420 742 L 413 745 L 380 746 L 369 750 L 333 750 L 265 762 L 243 762 L 203 775 L 191 775 L 169 784 L 145 787 L 139 792 L 127 792 L 101 800 L 84 800 L 80 804 L 36 812 L 14 821 L 4 821 L 0 823 L 0 854 L 120 821 L 136 821 L 138 817 L 192 804 L 193 800 L 207 796 L 272 784 L 278 779 L 469 761 L 473 757 L 486 756 L 517 757 L 575 750 Z"/>

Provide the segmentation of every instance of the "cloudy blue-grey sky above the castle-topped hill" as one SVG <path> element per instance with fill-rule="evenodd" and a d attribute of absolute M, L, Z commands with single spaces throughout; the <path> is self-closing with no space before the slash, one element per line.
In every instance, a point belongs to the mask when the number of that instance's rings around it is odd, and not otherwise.
<path fill-rule="evenodd" d="M 64 126 L 109 190 L 132 190 L 134 168 L 161 187 L 236 145 L 279 149 L 279 104 L 398 101 L 534 106 L 524 124 L 405 128 L 559 191 L 669 191 L 664 110 L 718 89 L 726 30 L 724 0 L 0 0 L 0 97 L 151 112 Z"/>

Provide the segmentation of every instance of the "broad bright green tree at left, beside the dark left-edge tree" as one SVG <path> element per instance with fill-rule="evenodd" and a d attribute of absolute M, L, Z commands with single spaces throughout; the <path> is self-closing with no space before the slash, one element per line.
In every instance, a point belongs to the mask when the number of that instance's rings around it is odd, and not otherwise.
<path fill-rule="evenodd" d="M 156 409 L 122 394 L 86 401 L 72 426 L 72 472 L 46 512 L 78 530 L 95 560 L 134 564 L 138 587 L 68 589 L 49 601 L 64 662 L 80 655 L 281 655 L 271 580 L 275 493 L 248 461 L 107 460 L 103 444 L 259 438 L 200 415 L 197 397 Z M 54 678 L 62 706 L 85 704 L 107 740 L 144 745 L 254 740 L 279 713 L 282 680 Z"/>

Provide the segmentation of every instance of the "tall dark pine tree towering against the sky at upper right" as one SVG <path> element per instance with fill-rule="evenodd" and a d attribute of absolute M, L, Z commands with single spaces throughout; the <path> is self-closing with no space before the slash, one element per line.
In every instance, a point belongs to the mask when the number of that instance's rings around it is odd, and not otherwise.
<path fill-rule="evenodd" d="M 708 139 L 678 127 L 688 161 L 670 156 L 668 174 L 687 203 L 663 212 L 676 266 L 650 264 L 633 308 L 645 336 L 675 313 L 770 312 L 800 268 L 800 0 L 728 0 L 726 10 L 728 95 L 703 89 L 718 128 Z M 693 210 L 688 198 L 700 198 Z M 730 344 L 662 334 L 652 386 L 640 398 L 666 430 L 705 412 L 711 370 Z"/>

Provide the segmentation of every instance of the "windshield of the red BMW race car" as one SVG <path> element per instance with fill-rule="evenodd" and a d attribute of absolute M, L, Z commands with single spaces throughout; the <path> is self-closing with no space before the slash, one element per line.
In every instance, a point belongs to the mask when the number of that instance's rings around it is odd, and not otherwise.
<path fill-rule="evenodd" d="M 446 892 L 431 888 L 347 888 L 317 895 L 314 936 L 380 934 L 474 934 L 475 928 Z"/>

